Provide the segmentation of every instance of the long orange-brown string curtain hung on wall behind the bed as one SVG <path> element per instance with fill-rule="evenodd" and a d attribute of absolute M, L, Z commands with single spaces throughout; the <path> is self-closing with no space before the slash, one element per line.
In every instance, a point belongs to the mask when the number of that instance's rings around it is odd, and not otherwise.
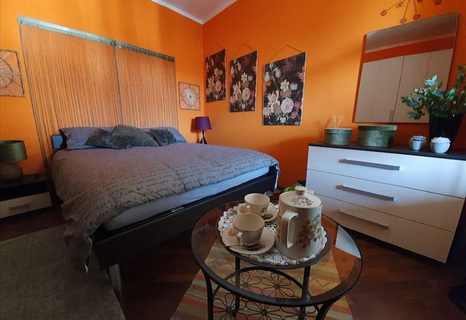
<path fill-rule="evenodd" d="M 173 61 L 26 24 L 20 31 L 49 176 L 59 128 L 178 128 Z"/>

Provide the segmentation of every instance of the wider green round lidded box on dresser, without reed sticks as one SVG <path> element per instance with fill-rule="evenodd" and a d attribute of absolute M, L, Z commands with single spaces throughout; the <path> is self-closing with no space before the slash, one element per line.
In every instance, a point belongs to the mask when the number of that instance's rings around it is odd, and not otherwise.
<path fill-rule="evenodd" d="M 389 146 L 393 144 L 397 126 L 358 126 L 358 144 Z"/>

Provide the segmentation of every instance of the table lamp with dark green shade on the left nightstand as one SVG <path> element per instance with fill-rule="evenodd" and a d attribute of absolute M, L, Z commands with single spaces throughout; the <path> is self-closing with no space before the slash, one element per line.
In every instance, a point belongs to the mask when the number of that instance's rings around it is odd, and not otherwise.
<path fill-rule="evenodd" d="M 15 162 L 28 159 L 24 141 L 0 141 L 0 180 L 15 181 L 21 179 L 23 170 Z"/>

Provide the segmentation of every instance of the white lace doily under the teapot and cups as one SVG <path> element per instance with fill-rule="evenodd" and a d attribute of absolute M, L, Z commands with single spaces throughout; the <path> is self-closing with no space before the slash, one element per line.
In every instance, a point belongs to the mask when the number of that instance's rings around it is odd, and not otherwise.
<path fill-rule="evenodd" d="M 275 208 L 278 210 L 278 205 L 274 205 Z M 223 212 L 223 216 L 220 217 L 220 220 L 218 221 L 218 231 L 220 231 L 220 235 L 222 235 L 223 230 L 225 230 L 226 227 L 228 227 L 230 224 L 232 224 L 233 217 L 236 215 L 236 208 L 233 207 L 228 209 L 228 211 Z M 266 222 L 266 228 L 272 231 L 272 233 L 275 235 L 275 222 L 270 221 Z M 320 251 L 322 251 L 325 247 L 325 244 L 327 243 L 327 232 L 325 232 L 324 228 L 321 227 L 321 237 L 320 237 Z M 307 258 L 302 258 L 299 260 L 291 259 L 287 256 L 283 256 L 283 254 L 273 246 L 270 248 L 269 251 L 257 255 L 245 255 L 249 256 L 250 258 L 257 260 L 262 263 L 266 264 L 272 264 L 272 265 L 288 265 L 288 264 L 297 264 L 301 262 L 306 262 L 308 260 L 314 259 L 316 256 L 309 256 Z"/>

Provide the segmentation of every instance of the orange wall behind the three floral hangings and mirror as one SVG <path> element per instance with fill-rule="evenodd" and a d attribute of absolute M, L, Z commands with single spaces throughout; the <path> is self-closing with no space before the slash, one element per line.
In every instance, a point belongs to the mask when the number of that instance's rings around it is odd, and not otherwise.
<path fill-rule="evenodd" d="M 387 16 L 380 12 L 395 0 L 238 0 L 203 27 L 204 56 L 226 48 L 227 65 L 258 49 L 257 111 L 229 112 L 225 101 L 206 104 L 212 130 L 209 143 L 245 147 L 270 154 L 281 165 L 280 185 L 305 178 L 307 144 L 323 140 L 323 129 L 332 114 L 343 114 L 340 127 L 357 128 L 352 122 L 363 36 L 370 31 L 399 24 L 402 9 Z M 423 18 L 451 12 L 460 13 L 458 38 L 452 65 L 466 64 L 466 0 L 433 1 L 419 5 Z M 290 45 L 307 51 L 302 125 L 263 126 L 262 86 L 264 64 L 294 55 Z M 283 49 L 282 49 L 283 48 Z M 281 50 L 282 49 L 282 50 Z M 235 56 L 233 56 L 235 55 Z M 260 70 L 260 71 L 259 71 Z M 456 78 L 453 67 L 450 83 Z M 228 81 L 228 80 L 227 80 Z M 227 84 L 228 85 L 228 84 Z M 456 147 L 466 147 L 466 121 Z M 353 130 L 352 140 L 357 137 Z M 396 144 L 407 144 L 414 134 L 428 135 L 427 124 L 399 124 Z"/>

